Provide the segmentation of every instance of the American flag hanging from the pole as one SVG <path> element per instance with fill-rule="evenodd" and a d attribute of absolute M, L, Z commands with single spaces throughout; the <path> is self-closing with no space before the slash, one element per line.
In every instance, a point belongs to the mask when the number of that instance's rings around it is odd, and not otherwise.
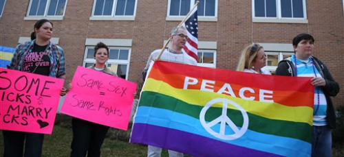
<path fill-rule="evenodd" d="M 197 43 L 198 43 L 198 21 L 197 21 L 197 7 L 191 13 L 188 19 L 186 19 L 183 26 L 188 30 L 189 39 L 186 40 L 184 52 L 189 56 L 195 58 L 197 61 Z"/>

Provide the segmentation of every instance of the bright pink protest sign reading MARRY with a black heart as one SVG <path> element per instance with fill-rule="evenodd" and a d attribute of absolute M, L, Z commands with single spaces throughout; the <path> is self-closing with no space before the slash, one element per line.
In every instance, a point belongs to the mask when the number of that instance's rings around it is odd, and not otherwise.
<path fill-rule="evenodd" d="M 0 68 L 0 130 L 52 134 L 64 80 Z"/>

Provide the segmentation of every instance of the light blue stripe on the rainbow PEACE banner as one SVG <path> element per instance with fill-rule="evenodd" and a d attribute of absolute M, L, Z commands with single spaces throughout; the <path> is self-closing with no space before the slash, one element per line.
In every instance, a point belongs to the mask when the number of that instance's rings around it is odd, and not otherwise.
<path fill-rule="evenodd" d="M 243 136 L 236 140 L 225 141 L 206 132 L 199 119 L 160 108 L 139 106 L 134 123 L 158 125 L 164 128 L 189 132 L 191 134 L 205 136 L 207 138 L 212 138 L 224 143 L 248 147 L 250 149 L 257 149 L 262 152 L 270 152 L 272 154 L 278 154 L 281 156 L 310 156 L 311 151 L 310 143 L 299 141 L 294 138 L 262 134 L 252 130 L 247 130 Z M 219 124 L 212 129 L 218 130 L 218 128 Z M 226 132 L 226 134 L 228 134 L 228 132 Z"/>

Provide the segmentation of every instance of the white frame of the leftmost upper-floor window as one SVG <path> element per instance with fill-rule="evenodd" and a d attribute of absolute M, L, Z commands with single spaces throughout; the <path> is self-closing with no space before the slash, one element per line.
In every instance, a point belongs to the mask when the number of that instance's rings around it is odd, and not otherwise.
<path fill-rule="evenodd" d="M 65 0 L 65 6 L 63 8 L 63 14 L 62 15 L 47 15 L 47 13 L 49 12 L 49 5 L 50 5 L 52 0 L 47 0 L 47 4 L 45 5 L 45 11 L 44 11 L 43 15 L 30 15 L 32 1 L 33 0 L 30 0 L 30 2 L 29 2 L 28 11 L 26 12 L 26 16 L 25 16 L 24 20 L 39 20 L 42 18 L 45 18 L 48 20 L 63 20 L 63 17 L 65 16 L 65 10 L 67 8 L 68 0 Z"/>

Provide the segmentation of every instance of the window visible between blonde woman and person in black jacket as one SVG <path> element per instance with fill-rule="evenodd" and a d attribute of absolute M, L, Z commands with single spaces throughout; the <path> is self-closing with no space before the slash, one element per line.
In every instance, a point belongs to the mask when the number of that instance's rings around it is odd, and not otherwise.
<path fill-rule="evenodd" d="M 265 51 L 266 54 L 266 67 L 268 71 L 271 73 L 275 73 L 279 61 L 284 60 L 286 58 L 291 57 L 294 53 L 293 52 L 279 52 L 279 51 Z"/>

